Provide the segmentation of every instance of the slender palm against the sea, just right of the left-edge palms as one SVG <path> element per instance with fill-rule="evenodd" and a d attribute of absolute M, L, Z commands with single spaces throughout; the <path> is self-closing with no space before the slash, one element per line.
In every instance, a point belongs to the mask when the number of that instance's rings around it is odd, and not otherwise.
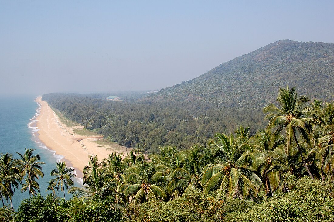
<path fill-rule="evenodd" d="M 27 175 L 26 185 L 28 186 L 30 197 L 31 194 L 35 195 L 35 192 L 32 191 L 31 188 L 39 191 L 39 186 L 35 179 L 38 180 L 39 177 L 44 176 L 40 165 L 45 164 L 39 161 L 41 157 L 38 154 L 35 156 L 32 155 L 33 151 L 33 149 L 25 148 L 25 153 L 23 155 L 17 153 L 21 157 L 21 159 L 18 160 L 21 168 L 21 176 L 24 177 Z"/>

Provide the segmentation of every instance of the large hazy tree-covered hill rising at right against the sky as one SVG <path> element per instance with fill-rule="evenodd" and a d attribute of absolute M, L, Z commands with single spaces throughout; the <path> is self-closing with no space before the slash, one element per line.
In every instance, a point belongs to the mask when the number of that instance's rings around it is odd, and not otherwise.
<path fill-rule="evenodd" d="M 203 99 L 225 107 L 262 107 L 275 101 L 279 87 L 290 85 L 297 86 L 300 95 L 330 101 L 333 80 L 333 43 L 281 40 L 162 89 L 149 99 Z"/>

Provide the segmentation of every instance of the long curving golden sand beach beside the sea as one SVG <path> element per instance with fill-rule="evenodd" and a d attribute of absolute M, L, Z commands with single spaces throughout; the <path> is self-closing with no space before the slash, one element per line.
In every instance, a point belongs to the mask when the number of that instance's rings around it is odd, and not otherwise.
<path fill-rule="evenodd" d="M 74 167 L 77 177 L 82 178 L 82 170 L 88 164 L 89 155 L 98 155 L 99 161 L 113 152 L 123 152 L 126 156 L 129 152 L 120 145 L 98 145 L 97 140 L 102 140 L 103 135 L 82 136 L 73 131 L 82 129 L 82 126 L 68 127 L 60 121 L 56 113 L 47 102 L 36 98 L 41 104 L 40 114 L 37 117 L 38 137 L 50 150 L 64 156 L 66 164 Z M 70 163 L 67 163 L 67 162 Z"/>

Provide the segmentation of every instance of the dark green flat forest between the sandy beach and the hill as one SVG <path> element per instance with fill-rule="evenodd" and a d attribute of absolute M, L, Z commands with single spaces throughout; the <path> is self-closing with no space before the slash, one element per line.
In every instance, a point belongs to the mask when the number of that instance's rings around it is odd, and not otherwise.
<path fill-rule="evenodd" d="M 144 146 L 149 153 L 159 146 L 205 145 L 215 132 L 230 133 L 238 125 L 252 126 L 251 134 L 265 127 L 260 108 L 224 108 L 198 99 L 118 102 L 89 96 L 50 93 L 42 99 L 87 129 L 127 147 Z"/>

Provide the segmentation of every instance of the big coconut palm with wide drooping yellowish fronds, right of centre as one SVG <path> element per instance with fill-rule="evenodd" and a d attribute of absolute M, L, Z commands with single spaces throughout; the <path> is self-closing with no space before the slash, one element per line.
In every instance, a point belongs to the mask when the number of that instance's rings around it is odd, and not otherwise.
<path fill-rule="evenodd" d="M 214 140 L 209 142 L 209 146 L 216 150 L 220 163 L 204 167 L 201 175 L 204 193 L 218 188 L 220 192 L 231 197 L 256 196 L 263 184 L 253 172 L 257 157 L 248 143 L 247 134 L 249 128 L 239 128 L 236 132 L 237 137 L 222 133 L 214 135 Z"/>

